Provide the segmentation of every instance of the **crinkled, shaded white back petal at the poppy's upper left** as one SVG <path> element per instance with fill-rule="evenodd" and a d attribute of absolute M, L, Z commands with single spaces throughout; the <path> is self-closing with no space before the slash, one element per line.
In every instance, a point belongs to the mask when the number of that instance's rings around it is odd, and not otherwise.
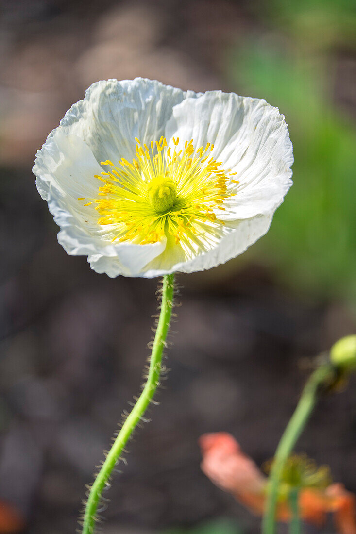
<path fill-rule="evenodd" d="M 135 157 L 135 137 L 156 142 L 164 133 L 173 106 L 194 91 L 182 91 L 157 80 L 107 80 L 93 83 L 83 100 L 60 121 L 66 133 L 81 137 L 95 158 L 118 161 Z"/>

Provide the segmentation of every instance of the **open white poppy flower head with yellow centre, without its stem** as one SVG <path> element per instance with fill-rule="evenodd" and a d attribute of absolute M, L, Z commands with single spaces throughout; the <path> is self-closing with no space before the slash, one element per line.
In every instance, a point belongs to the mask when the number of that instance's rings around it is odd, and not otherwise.
<path fill-rule="evenodd" d="M 37 152 L 68 254 L 110 277 L 210 269 L 264 235 L 291 186 L 284 116 L 265 100 L 100 81 Z"/>

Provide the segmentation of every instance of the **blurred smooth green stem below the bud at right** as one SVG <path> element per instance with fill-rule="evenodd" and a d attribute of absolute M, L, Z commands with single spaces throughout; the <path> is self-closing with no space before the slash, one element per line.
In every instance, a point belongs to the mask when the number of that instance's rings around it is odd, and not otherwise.
<path fill-rule="evenodd" d="M 322 391 L 322 386 L 330 385 L 337 379 L 337 369 L 330 364 L 324 364 L 309 377 L 301 394 L 299 403 L 293 413 L 281 441 L 277 446 L 274 462 L 269 475 L 267 486 L 267 501 L 265 515 L 262 521 L 262 534 L 274 534 L 275 515 L 278 498 L 278 487 L 285 461 L 290 456 L 300 434 L 302 433 Z"/>

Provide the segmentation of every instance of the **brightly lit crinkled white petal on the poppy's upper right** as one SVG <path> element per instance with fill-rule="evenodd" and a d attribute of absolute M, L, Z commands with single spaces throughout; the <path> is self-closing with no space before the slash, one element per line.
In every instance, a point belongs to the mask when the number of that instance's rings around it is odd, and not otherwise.
<path fill-rule="evenodd" d="M 225 170 L 236 172 L 236 195 L 225 202 L 223 221 L 270 214 L 292 185 L 292 144 L 284 116 L 265 100 L 209 91 L 187 98 L 173 109 L 165 135 L 194 146 L 213 143 L 212 155 Z"/>

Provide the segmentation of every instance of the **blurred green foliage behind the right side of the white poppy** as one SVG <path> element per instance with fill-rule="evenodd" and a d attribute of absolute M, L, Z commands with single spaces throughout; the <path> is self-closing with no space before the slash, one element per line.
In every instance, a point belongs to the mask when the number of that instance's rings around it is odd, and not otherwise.
<path fill-rule="evenodd" d="M 313 32 L 303 37 L 296 32 L 297 42 L 294 33 L 288 39 L 282 36 L 278 25 L 288 21 L 284 32 L 299 28 L 311 13 L 315 21 L 317 7 L 321 25 L 330 13 L 342 13 L 328 18 L 328 44 L 335 43 L 340 28 L 356 27 L 355 15 L 335 6 L 328 1 L 273 0 L 269 9 L 279 15 L 274 32 L 245 40 L 234 51 L 230 72 L 237 92 L 263 97 L 281 109 L 294 147 L 294 185 L 253 254 L 263 253 L 264 261 L 297 290 L 355 303 L 356 130 L 345 109 L 332 101 L 332 58 L 313 49 Z M 309 26 L 312 21 L 305 22 Z"/>

